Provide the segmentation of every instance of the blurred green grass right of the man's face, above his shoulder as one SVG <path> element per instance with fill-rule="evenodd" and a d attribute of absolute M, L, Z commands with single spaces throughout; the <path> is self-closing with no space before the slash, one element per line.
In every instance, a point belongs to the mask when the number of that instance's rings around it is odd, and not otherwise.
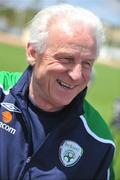
<path fill-rule="evenodd" d="M 107 122 L 112 118 L 113 103 L 118 97 L 120 97 L 120 69 L 96 64 L 95 80 L 88 91 L 87 99 Z"/>

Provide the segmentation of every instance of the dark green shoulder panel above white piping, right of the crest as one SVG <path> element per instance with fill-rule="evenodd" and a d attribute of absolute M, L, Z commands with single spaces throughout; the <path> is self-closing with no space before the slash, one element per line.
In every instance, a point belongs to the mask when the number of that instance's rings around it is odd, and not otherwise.
<path fill-rule="evenodd" d="M 100 138 L 113 141 L 108 124 L 87 100 L 84 101 L 84 112 L 83 117 L 90 130 Z"/>

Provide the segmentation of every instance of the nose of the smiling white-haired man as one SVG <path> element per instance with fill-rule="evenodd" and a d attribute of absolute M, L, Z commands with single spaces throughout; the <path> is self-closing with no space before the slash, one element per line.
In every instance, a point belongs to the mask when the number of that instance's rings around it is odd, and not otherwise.
<path fill-rule="evenodd" d="M 69 70 L 69 77 L 74 81 L 79 81 L 81 79 L 81 65 L 76 64 L 71 70 Z"/>

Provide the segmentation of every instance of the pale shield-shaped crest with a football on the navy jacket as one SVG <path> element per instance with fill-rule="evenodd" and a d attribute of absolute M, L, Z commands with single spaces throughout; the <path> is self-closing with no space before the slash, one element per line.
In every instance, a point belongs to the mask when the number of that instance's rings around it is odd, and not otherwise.
<path fill-rule="evenodd" d="M 59 158 L 65 167 L 74 166 L 83 154 L 83 149 L 74 141 L 64 141 L 59 149 Z"/>

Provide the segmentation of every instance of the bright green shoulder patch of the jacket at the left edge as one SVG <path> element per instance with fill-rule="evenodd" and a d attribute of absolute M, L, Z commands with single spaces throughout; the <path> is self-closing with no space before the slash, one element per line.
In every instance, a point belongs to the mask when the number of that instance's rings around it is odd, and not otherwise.
<path fill-rule="evenodd" d="M 5 91 L 5 92 L 9 91 L 9 89 L 20 78 L 20 76 L 21 76 L 20 72 L 1 71 L 0 72 L 0 88 L 2 88 L 3 91 Z"/>

